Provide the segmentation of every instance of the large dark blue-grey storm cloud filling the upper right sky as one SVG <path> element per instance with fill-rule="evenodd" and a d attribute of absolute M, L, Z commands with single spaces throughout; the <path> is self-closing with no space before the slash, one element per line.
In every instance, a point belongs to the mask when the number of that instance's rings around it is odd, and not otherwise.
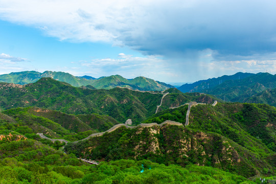
<path fill-rule="evenodd" d="M 214 57 L 276 52 L 274 1 L 198 1 L 190 7 L 152 7 L 140 28 L 122 34 L 126 45 L 168 57 L 211 49 Z M 151 12 L 151 13 L 149 13 Z"/>

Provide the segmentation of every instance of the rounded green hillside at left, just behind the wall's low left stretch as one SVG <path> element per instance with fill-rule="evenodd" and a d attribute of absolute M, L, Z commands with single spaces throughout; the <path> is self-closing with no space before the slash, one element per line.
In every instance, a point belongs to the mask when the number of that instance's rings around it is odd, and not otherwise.
<path fill-rule="evenodd" d="M 19 133 L 43 133 L 68 141 L 84 139 L 96 132 L 103 132 L 119 124 L 108 116 L 99 114 L 66 114 L 38 107 L 12 108 L 0 113 L 0 126 Z M 33 135 L 27 135 L 33 136 Z"/>

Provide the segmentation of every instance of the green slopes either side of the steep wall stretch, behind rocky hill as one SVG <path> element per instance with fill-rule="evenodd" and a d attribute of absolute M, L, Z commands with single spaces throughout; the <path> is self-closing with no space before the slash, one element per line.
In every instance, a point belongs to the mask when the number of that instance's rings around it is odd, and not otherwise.
<path fill-rule="evenodd" d="M 143 123 L 162 123 L 166 120 L 185 123 L 187 109 L 188 105 L 165 110 L 154 114 Z M 246 145 L 248 149 L 248 140 L 253 136 L 276 151 L 276 108 L 273 106 L 249 103 L 197 105 L 191 108 L 188 127 L 219 133 L 242 146 Z"/>

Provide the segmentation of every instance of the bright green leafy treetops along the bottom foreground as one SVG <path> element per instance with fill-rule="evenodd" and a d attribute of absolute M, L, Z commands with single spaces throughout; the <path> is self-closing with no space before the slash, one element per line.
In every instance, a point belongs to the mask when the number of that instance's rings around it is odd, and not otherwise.
<path fill-rule="evenodd" d="M 196 165 L 182 168 L 149 160 L 124 159 L 102 162 L 98 166 L 88 165 L 74 154 L 66 155 L 33 140 L 3 140 L 0 141 L 0 150 L 0 183 L 3 184 L 256 183 L 220 169 Z"/>

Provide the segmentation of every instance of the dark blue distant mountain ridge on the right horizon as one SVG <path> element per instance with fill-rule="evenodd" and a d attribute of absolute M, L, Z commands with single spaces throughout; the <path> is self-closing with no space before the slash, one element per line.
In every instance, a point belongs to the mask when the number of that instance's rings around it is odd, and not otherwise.
<path fill-rule="evenodd" d="M 200 92 L 214 95 L 225 101 L 232 102 L 251 102 L 251 103 L 267 103 L 274 105 L 273 100 L 262 100 L 261 98 L 276 99 L 275 93 L 269 95 L 259 95 L 258 99 L 249 100 L 263 91 L 276 88 L 276 75 L 269 73 L 237 73 L 232 76 L 222 76 L 208 80 L 197 81 L 193 84 L 185 84 L 178 89 L 183 93 L 186 92 Z"/>

